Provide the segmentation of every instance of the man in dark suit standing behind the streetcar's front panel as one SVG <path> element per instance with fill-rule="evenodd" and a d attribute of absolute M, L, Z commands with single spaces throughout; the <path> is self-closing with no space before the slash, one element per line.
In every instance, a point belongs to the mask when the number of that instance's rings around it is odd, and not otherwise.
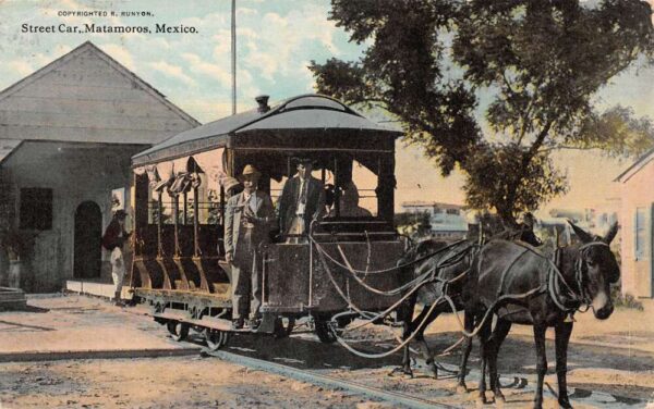
<path fill-rule="evenodd" d="M 287 239 L 303 241 L 311 222 L 325 214 L 325 187 L 311 175 L 311 159 L 298 161 L 298 174 L 283 185 L 279 199 L 279 224 Z"/>

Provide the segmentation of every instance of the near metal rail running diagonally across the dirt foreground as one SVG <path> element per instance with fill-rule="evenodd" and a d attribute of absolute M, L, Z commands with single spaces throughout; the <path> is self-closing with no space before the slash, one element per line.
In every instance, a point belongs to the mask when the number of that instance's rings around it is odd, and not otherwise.
<path fill-rule="evenodd" d="M 312 371 L 306 371 L 293 367 L 287 367 L 280 363 L 269 362 L 257 358 L 245 357 L 238 354 L 227 352 L 225 350 L 204 351 L 205 354 L 237 363 L 251 369 L 270 372 L 278 375 L 292 377 L 296 381 L 307 382 L 313 385 L 326 386 L 329 388 L 342 388 L 356 394 L 364 395 L 368 398 L 380 399 L 392 405 L 402 405 L 408 408 L 415 409 L 434 409 L 434 408 L 456 408 L 455 406 L 441 404 L 436 400 L 423 399 L 407 394 L 384 391 L 377 387 L 360 384 L 358 382 L 340 380 L 335 376 L 318 374 Z"/>

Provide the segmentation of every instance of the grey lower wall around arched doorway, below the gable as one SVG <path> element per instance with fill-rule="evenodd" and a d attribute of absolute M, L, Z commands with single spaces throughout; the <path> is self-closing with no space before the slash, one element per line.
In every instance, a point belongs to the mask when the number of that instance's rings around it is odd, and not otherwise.
<path fill-rule="evenodd" d="M 24 142 L 2 164 L 20 196 L 24 187 L 52 189 L 52 230 L 37 236 L 29 265 L 32 292 L 53 292 L 73 276 L 75 210 L 83 201 L 96 202 L 102 212 L 102 230 L 111 220 L 111 190 L 131 184 L 130 158 L 143 146 L 66 142 Z M 19 200 L 15 202 L 16 214 Z M 108 255 L 102 250 L 102 259 Z M 107 271 L 105 269 L 105 276 Z"/>

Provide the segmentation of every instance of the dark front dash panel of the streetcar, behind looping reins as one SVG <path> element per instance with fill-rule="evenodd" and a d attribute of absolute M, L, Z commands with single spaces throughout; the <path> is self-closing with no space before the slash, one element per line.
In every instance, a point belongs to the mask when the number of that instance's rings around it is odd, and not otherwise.
<path fill-rule="evenodd" d="M 340 255 L 339 246 L 347 262 Z M 269 247 L 265 269 L 264 311 L 336 312 L 348 309 L 346 298 L 358 308 L 378 311 L 399 300 L 400 296 L 378 295 L 365 288 L 356 282 L 348 269 L 339 267 L 329 258 L 343 265 L 349 263 L 354 270 L 365 271 L 367 268 L 367 271 L 373 272 L 391 269 L 403 253 L 403 243 L 351 241 L 339 245 L 322 244 L 320 247 L 326 252 L 323 257 L 315 247 L 310 253 L 307 244 L 277 244 Z M 311 259 L 314 267 L 313 275 L 308 268 Z M 360 273 L 358 276 L 365 285 L 383 292 L 395 289 L 402 284 L 397 270 L 383 274 Z M 335 285 L 340 288 L 340 292 Z"/>

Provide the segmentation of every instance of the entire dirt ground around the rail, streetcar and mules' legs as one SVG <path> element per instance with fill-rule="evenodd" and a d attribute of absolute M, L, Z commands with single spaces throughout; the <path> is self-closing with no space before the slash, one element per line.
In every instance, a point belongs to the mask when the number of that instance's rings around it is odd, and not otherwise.
<path fill-rule="evenodd" d="M 66 347 L 116 350 L 134 347 L 193 349 L 191 343 L 173 343 L 164 327 L 129 309 L 110 307 L 97 299 L 58 298 L 33 300 L 32 312 L 0 313 L 0 352 L 20 354 Z M 46 311 L 47 310 L 47 311 Z M 644 311 L 618 309 L 607 321 L 592 313 L 579 314 L 569 349 L 568 381 L 576 408 L 654 407 L 654 302 Z M 74 327 L 74 331 L 69 331 Z M 338 344 L 325 345 L 299 327 L 291 338 L 234 336 L 228 351 L 329 374 L 374 387 L 433 399 L 455 407 L 475 408 L 479 379 L 477 347 L 471 356 L 468 393 L 457 391 L 452 372 L 459 352 L 438 357 L 444 368 L 434 380 L 417 359 L 415 376 L 389 376 L 399 364 L 398 354 L 385 359 L 358 358 Z M 106 334 L 113 334 L 105 338 Z M 351 333 L 358 348 L 379 351 L 392 346 L 380 327 Z M 553 334 L 548 333 L 547 391 L 556 392 Z M 366 339 L 367 338 L 367 339 Z M 431 348 L 443 351 L 459 338 L 452 315 L 429 327 Z M 415 348 L 420 345 L 414 344 Z M 93 348 L 92 348 L 93 347 Z M 1 355 L 1 354 L 0 354 Z M 422 365 L 422 367 L 421 367 Z M 499 358 L 507 396 L 505 408 L 531 406 L 535 381 L 535 352 L 531 329 L 516 326 Z M 492 395 L 488 393 L 488 397 Z M 0 409 L 5 408 L 386 408 L 347 391 L 332 391 L 283 376 L 253 371 L 217 358 L 192 356 L 140 359 L 78 359 L 65 361 L 0 363 Z M 486 407 L 495 407 L 491 404 Z M 552 393 L 545 407 L 555 408 Z"/>

